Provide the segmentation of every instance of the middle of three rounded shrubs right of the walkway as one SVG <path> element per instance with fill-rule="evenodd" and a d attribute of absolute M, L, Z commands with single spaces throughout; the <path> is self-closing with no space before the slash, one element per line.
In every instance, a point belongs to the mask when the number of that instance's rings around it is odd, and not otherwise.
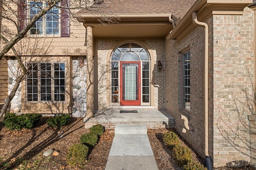
<path fill-rule="evenodd" d="M 175 145 L 172 149 L 172 155 L 179 166 L 184 166 L 192 161 L 192 152 L 188 147 Z"/>

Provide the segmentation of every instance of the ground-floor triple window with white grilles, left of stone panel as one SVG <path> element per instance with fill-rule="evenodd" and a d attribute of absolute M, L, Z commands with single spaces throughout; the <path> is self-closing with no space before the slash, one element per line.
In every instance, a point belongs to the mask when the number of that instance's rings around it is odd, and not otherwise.
<path fill-rule="evenodd" d="M 27 101 L 65 101 L 65 63 L 30 64 Z"/>

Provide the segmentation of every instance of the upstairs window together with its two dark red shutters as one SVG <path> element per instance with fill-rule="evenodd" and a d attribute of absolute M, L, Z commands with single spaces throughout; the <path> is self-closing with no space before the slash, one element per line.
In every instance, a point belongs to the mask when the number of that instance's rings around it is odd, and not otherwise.
<path fill-rule="evenodd" d="M 22 31 L 34 15 L 48 6 L 46 0 L 19 0 L 18 5 L 18 28 Z M 65 8 L 53 6 L 44 16 L 37 20 L 30 31 L 30 35 L 47 35 L 56 37 L 70 37 L 70 14 L 66 8 L 68 1 L 62 0 L 58 5 Z"/>

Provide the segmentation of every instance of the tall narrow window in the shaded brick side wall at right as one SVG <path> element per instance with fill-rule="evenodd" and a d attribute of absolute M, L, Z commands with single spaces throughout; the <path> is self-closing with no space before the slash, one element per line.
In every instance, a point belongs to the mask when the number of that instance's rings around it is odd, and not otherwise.
<path fill-rule="evenodd" d="M 190 111 L 190 51 L 182 54 L 182 109 Z"/>

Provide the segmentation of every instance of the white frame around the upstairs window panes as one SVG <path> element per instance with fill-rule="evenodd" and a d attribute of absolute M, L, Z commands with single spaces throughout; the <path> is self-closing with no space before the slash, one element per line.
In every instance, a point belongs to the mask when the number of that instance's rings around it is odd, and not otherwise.
<path fill-rule="evenodd" d="M 28 10 L 28 18 L 30 18 L 30 12 L 31 12 L 31 8 L 32 8 L 32 6 L 30 5 L 30 3 L 31 2 L 34 2 L 34 3 L 36 3 L 36 2 L 38 2 L 38 3 L 42 3 L 42 8 L 45 8 L 46 6 L 47 6 L 47 3 L 43 0 L 43 1 L 28 1 L 27 2 L 27 5 L 28 5 L 28 7 L 29 7 L 29 10 Z M 53 8 L 56 8 L 56 7 L 53 7 Z M 58 15 L 58 34 L 56 34 L 56 33 L 54 33 L 54 34 L 46 34 L 46 15 L 47 15 L 47 13 L 44 15 L 44 16 L 42 16 L 42 27 L 40 27 L 40 29 L 42 29 L 42 34 L 39 34 L 39 33 L 35 33 L 35 34 L 32 34 L 31 33 L 31 29 L 33 29 L 33 28 L 30 28 L 30 31 L 29 31 L 29 35 L 30 36 L 33 36 L 33 35 L 36 35 L 36 36 L 40 36 L 40 37 L 44 37 L 44 36 L 47 36 L 47 37 L 60 37 L 61 36 L 61 17 L 60 17 L 60 12 L 61 12 L 61 10 L 59 9 L 59 8 L 56 8 L 56 9 L 58 9 L 58 13 L 54 13 L 54 14 L 56 14 L 56 15 Z M 53 14 L 53 13 L 50 13 L 50 14 Z M 38 21 L 36 21 L 36 23 L 37 23 Z M 35 24 L 36 24 L 35 23 Z"/>

